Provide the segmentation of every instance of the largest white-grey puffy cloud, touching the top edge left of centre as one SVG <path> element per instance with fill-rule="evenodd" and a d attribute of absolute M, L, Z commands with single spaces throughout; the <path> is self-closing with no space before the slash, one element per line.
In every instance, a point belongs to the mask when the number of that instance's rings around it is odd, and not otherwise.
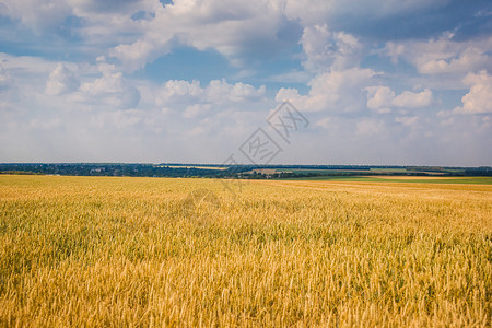
<path fill-rule="evenodd" d="M 215 49 L 234 66 L 242 66 L 248 57 L 279 51 L 284 45 L 279 32 L 286 20 L 276 1 L 234 0 L 224 5 L 219 0 L 177 0 L 153 13 L 152 20 L 139 24 L 142 33 L 137 40 L 110 50 L 129 70 L 167 54 L 175 44 Z"/>

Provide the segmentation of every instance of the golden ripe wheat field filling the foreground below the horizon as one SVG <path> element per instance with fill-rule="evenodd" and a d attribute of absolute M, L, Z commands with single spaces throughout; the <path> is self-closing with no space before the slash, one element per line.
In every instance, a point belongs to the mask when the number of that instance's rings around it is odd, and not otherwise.
<path fill-rule="evenodd" d="M 0 176 L 0 326 L 490 327 L 492 186 L 367 179 Z"/>

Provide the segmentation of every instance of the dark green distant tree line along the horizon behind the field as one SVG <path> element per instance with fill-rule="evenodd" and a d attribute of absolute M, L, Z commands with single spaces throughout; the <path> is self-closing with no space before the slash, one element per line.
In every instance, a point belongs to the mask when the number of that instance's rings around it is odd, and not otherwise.
<path fill-rule="evenodd" d="M 270 169 L 270 171 L 278 169 L 278 172 L 262 173 L 261 169 Z M 282 172 L 282 169 L 284 171 Z M 295 169 L 305 169 L 306 172 L 298 172 L 298 171 L 295 172 Z M 309 169 L 314 172 L 309 172 Z M 374 169 L 387 169 L 387 171 L 374 171 Z M 492 167 L 490 166 L 426 167 L 426 166 L 372 166 L 372 165 L 234 165 L 224 168 L 221 167 L 221 165 L 216 164 L 186 165 L 186 164 L 125 164 L 125 163 L 15 163 L 15 164 L 0 164 L 0 174 L 281 179 L 281 178 L 302 178 L 302 177 L 319 177 L 319 176 L 358 176 L 358 175 L 425 176 L 440 174 L 441 176 L 492 176 Z"/>

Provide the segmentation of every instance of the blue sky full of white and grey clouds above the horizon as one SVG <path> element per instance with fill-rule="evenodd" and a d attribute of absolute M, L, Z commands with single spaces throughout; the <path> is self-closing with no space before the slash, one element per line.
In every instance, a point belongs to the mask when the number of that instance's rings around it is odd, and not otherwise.
<path fill-rule="evenodd" d="M 0 162 L 227 159 L 492 165 L 492 1 L 0 0 Z"/>

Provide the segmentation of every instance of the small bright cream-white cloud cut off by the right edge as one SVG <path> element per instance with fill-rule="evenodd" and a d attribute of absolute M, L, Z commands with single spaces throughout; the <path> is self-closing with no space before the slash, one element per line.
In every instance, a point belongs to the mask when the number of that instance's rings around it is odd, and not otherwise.
<path fill-rule="evenodd" d="M 470 91 L 462 96 L 462 106 L 456 107 L 454 113 L 492 113 L 492 75 L 487 71 L 469 73 L 464 83 L 470 85 Z"/>

